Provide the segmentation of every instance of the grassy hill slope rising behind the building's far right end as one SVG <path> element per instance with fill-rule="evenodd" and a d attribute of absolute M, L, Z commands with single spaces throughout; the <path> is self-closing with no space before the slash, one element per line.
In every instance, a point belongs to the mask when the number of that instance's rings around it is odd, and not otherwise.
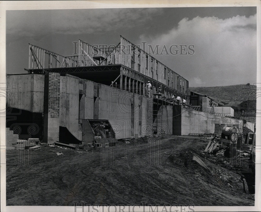
<path fill-rule="evenodd" d="M 249 89 L 244 88 L 245 86 L 246 85 L 190 87 L 189 90 L 205 94 L 213 99 L 223 102 L 225 104 L 224 106 L 232 107 L 235 114 L 237 114 L 238 109 L 244 109 L 246 113 L 256 110 L 256 86 L 250 85 Z"/>

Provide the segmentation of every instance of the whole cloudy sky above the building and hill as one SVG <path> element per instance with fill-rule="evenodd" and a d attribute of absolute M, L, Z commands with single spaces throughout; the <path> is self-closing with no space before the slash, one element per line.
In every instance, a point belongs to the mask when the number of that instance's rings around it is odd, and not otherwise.
<path fill-rule="evenodd" d="M 194 45 L 193 55 L 153 55 L 189 87 L 253 84 L 256 21 L 256 7 L 8 10 L 6 73 L 27 73 L 28 43 L 66 56 L 79 39 L 117 45 L 122 35 L 141 46 L 158 45 L 160 52 L 164 46 Z"/>

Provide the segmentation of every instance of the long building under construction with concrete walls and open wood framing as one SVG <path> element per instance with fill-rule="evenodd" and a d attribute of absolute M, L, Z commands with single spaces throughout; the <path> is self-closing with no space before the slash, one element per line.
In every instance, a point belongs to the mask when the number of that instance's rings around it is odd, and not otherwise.
<path fill-rule="evenodd" d="M 214 133 L 217 123 L 243 124 L 174 104 L 173 95 L 190 95 L 188 81 L 122 36 L 113 48 L 77 44 L 71 56 L 29 44 L 28 74 L 7 75 L 8 96 L 16 95 L 7 98 L 7 127 L 19 138 L 87 146 L 99 136 Z"/>

